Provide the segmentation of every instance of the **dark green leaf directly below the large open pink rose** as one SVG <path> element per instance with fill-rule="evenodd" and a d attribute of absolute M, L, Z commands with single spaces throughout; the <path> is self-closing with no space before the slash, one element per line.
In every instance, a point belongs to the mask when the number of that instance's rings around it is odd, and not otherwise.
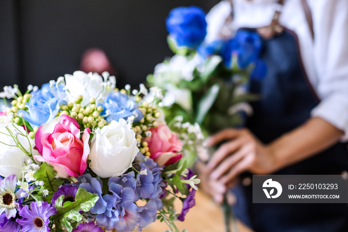
<path fill-rule="evenodd" d="M 55 178 L 57 176 L 56 170 L 49 163 L 42 163 L 40 169 L 34 173 L 34 177 L 37 180 L 41 180 L 44 182 L 44 185 L 41 189 L 48 190 L 48 196 L 42 197 L 42 200 L 51 203 L 53 193 L 57 192 L 58 187 L 61 186 L 64 182 L 61 178 Z"/>

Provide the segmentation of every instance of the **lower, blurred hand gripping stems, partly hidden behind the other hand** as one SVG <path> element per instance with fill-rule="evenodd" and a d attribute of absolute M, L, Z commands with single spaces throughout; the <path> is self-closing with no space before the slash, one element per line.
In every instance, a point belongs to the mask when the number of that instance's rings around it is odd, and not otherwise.
<path fill-rule="evenodd" d="M 226 186 L 220 181 L 212 181 L 209 178 L 206 165 L 202 162 L 197 162 L 196 168 L 198 170 L 198 178 L 200 179 L 199 187 L 205 193 L 210 195 L 216 203 L 221 204 L 224 199 L 224 193 L 226 192 Z"/>

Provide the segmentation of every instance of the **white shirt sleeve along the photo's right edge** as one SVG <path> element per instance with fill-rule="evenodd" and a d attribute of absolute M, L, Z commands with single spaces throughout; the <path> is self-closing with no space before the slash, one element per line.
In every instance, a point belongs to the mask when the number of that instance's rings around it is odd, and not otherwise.
<path fill-rule="evenodd" d="M 348 140 L 348 0 L 311 0 L 314 63 L 320 104 L 311 112 L 345 132 Z"/>

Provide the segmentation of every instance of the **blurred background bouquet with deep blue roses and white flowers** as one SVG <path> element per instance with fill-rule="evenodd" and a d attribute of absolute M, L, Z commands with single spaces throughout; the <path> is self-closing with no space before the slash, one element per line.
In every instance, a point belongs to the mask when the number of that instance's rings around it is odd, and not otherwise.
<path fill-rule="evenodd" d="M 175 55 L 158 64 L 147 82 L 162 88 L 167 121 L 183 116 L 207 133 L 242 125 L 241 112 L 252 113 L 246 102 L 258 99 L 248 93 L 249 81 L 265 75 L 260 36 L 241 30 L 232 38 L 208 40 L 206 14 L 196 6 L 174 8 L 166 25 Z"/>

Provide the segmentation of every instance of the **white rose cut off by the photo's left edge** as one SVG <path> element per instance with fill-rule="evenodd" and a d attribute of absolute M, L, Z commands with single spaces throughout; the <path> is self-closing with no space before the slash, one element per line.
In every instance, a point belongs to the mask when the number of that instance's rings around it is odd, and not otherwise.
<path fill-rule="evenodd" d="M 11 131 L 15 131 L 15 128 L 11 123 L 7 125 L 7 128 L 9 128 Z M 7 177 L 9 175 L 15 174 L 17 175 L 17 178 L 19 178 L 20 172 L 25 166 L 22 159 L 24 158 L 24 160 L 28 160 L 29 157 L 17 146 L 8 146 L 16 144 L 11 136 L 5 135 L 9 134 L 7 128 L 0 126 L 0 176 Z M 16 128 L 19 129 L 20 133 L 25 134 L 23 127 L 16 125 Z M 33 155 L 38 155 L 38 152 L 33 149 L 33 147 L 35 146 L 34 140 L 20 134 L 18 134 L 17 138 L 19 143 L 26 151 L 30 150 L 31 145 L 32 152 L 34 153 Z M 8 145 L 5 145 L 4 143 Z"/>

